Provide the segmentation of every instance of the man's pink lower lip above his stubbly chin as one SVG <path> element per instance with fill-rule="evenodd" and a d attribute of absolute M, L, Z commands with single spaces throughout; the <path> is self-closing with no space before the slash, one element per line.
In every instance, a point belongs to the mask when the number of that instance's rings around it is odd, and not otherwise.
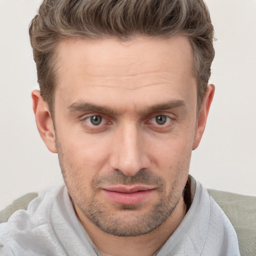
<path fill-rule="evenodd" d="M 133 193 L 123 193 L 103 189 L 103 192 L 116 203 L 136 204 L 150 196 L 154 189 L 141 190 Z"/>

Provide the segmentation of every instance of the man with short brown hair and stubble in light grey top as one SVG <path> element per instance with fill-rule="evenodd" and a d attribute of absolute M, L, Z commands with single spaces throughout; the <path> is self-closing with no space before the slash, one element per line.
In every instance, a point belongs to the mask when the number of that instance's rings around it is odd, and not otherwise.
<path fill-rule="evenodd" d="M 38 131 L 65 186 L 0 224 L 3 255 L 239 255 L 188 175 L 214 93 L 201 0 L 44 0 L 30 24 Z"/>

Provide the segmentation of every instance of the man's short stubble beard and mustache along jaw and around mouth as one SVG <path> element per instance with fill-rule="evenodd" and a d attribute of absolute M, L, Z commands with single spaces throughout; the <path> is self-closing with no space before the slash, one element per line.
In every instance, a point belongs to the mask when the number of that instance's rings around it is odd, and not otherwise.
<path fill-rule="evenodd" d="M 149 233 L 171 215 L 180 198 L 183 196 L 184 188 L 181 187 L 177 190 L 180 187 L 177 181 L 173 183 L 168 194 L 152 205 L 151 209 L 145 213 L 139 214 L 139 206 L 136 204 L 120 204 L 116 211 L 110 212 L 107 204 L 104 204 L 104 202 L 99 201 L 97 198 L 99 187 L 103 183 L 111 185 L 156 185 L 158 187 L 157 192 L 162 194 L 166 187 L 164 179 L 148 169 L 141 169 L 133 176 L 126 176 L 120 170 L 113 170 L 111 174 L 93 178 L 91 187 L 93 193 L 88 197 L 84 192 L 86 191 L 86 187 L 83 186 L 82 177 L 79 175 L 79 173 L 86 173 L 86 171 L 81 171 L 74 166 L 64 156 L 59 144 L 57 143 L 56 145 L 62 176 L 73 203 L 78 206 L 88 220 L 106 233 L 116 236 L 138 236 Z"/>

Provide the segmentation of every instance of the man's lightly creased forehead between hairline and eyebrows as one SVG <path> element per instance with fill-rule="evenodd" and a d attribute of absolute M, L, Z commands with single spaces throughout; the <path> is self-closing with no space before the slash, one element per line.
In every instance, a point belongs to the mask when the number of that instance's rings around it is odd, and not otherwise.
<path fill-rule="evenodd" d="M 88 95 L 102 101 L 106 95 L 113 100 L 143 96 L 146 101 L 156 94 L 182 99 L 196 87 L 192 48 L 184 36 L 70 39 L 58 45 L 57 56 L 56 91 L 65 94 L 67 104 L 78 97 L 88 100 Z"/>

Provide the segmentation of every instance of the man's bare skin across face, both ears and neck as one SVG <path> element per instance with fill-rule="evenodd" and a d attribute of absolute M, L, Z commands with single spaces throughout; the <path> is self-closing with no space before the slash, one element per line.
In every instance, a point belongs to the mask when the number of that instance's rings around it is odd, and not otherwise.
<path fill-rule="evenodd" d="M 191 151 L 214 86 L 196 118 L 193 55 L 183 36 L 71 39 L 57 53 L 55 129 L 37 90 L 33 109 L 76 214 L 103 255 L 152 255 L 185 214 Z"/>

